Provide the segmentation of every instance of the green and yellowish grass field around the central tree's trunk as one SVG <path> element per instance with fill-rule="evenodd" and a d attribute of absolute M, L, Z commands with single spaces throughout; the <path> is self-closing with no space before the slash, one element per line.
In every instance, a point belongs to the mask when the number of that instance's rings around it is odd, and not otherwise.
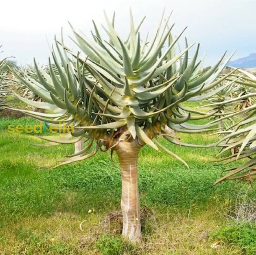
<path fill-rule="evenodd" d="M 12 122 L 25 125 L 31 119 L 0 119 L 0 254 L 255 254 L 216 236 L 231 224 L 221 213 L 249 186 L 230 181 L 212 187 L 225 169 L 210 163 L 217 149 L 165 143 L 189 169 L 164 152 L 148 146 L 141 150 L 143 243 L 131 247 L 120 239 L 116 155 L 111 161 L 108 152 L 98 152 L 87 161 L 52 169 L 73 153 L 73 145 L 35 147 L 42 143 L 35 135 L 7 133 Z M 216 139 L 179 136 L 198 144 Z"/>

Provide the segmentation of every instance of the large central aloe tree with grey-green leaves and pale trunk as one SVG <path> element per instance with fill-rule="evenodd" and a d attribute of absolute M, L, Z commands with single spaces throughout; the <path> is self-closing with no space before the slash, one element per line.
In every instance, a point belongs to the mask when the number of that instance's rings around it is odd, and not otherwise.
<path fill-rule="evenodd" d="M 163 14 L 164 15 L 164 14 Z M 34 102 L 17 95 L 18 98 L 37 108 L 52 113 L 26 111 L 29 116 L 49 124 L 55 124 L 64 132 L 69 124 L 75 126 L 73 133 L 61 138 L 42 137 L 49 143 L 42 146 L 76 143 L 86 139 L 84 148 L 70 155 L 57 166 L 85 160 L 99 150 L 115 151 L 120 163 L 122 177 L 121 208 L 123 214 L 122 235 L 131 242 L 141 240 L 140 204 L 137 180 L 137 158 L 140 149 L 149 145 L 155 150 L 164 150 L 171 156 L 187 163 L 164 147 L 158 137 L 181 146 L 200 147 L 177 141 L 165 131 L 171 129 L 186 133 L 208 131 L 216 125 L 195 125 L 188 120 L 208 118 L 214 113 L 196 111 L 182 105 L 185 101 L 204 100 L 215 93 L 211 89 L 230 74 L 218 78 L 229 57 L 223 58 L 206 73 L 200 74 L 202 62 L 197 62 L 199 45 L 189 59 L 188 50 L 176 53 L 175 48 L 184 30 L 174 39 L 168 20 L 161 22 L 149 42 L 142 41 L 140 27 L 135 28 L 131 14 L 130 34 L 121 40 L 114 29 L 114 17 L 109 21 L 105 14 L 103 26 L 108 41 L 105 41 L 93 22 L 92 39 L 77 32 L 72 26 L 74 43 L 81 52 L 73 52 L 55 38 L 55 50 L 49 59 L 48 75 L 34 61 L 38 79 L 15 73 L 30 90 L 45 102 Z M 73 63 L 71 58 L 75 57 Z M 58 69 L 59 77 L 52 70 Z M 232 73 L 233 71 L 231 71 Z M 207 92 L 209 91 L 209 92 Z M 204 93 L 203 95 L 200 95 Z M 200 96 L 199 96 L 200 95 Z M 91 151 L 90 148 L 94 147 Z M 56 167 L 57 167 L 56 166 Z"/>

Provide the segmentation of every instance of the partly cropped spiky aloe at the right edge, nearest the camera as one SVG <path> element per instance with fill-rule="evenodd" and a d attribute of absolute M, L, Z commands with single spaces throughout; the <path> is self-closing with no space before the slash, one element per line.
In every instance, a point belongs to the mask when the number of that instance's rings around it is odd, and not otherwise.
<path fill-rule="evenodd" d="M 243 76 L 236 80 L 236 83 L 247 86 L 247 91 L 254 92 L 246 93 L 245 95 L 241 93 L 238 97 L 229 100 L 228 102 L 230 103 L 234 102 L 235 100 L 253 102 L 253 99 L 256 96 L 256 76 L 242 69 L 238 69 L 238 71 L 234 73 L 233 76 L 237 77 L 241 74 L 243 74 Z M 231 76 L 228 79 L 232 80 L 232 78 L 233 77 Z M 240 114 L 240 119 L 223 132 L 225 136 L 222 137 L 221 140 L 219 140 L 219 142 L 216 144 L 218 146 L 222 146 L 222 149 L 217 156 L 222 155 L 228 149 L 239 147 L 239 150 L 234 155 L 220 158 L 217 161 L 224 161 L 223 164 L 226 165 L 235 160 L 240 160 L 241 164 L 239 166 L 226 169 L 225 172 L 228 173 L 224 177 L 220 178 L 215 184 L 224 180 L 232 179 L 238 179 L 239 181 L 249 180 L 252 183 L 252 181 L 256 179 L 256 161 L 254 157 L 256 152 L 255 112 L 256 105 L 252 104 L 246 105 L 246 107 L 239 107 L 238 111 L 227 115 L 228 117 L 231 117 L 232 115 Z M 226 117 L 223 117 L 223 119 Z"/>

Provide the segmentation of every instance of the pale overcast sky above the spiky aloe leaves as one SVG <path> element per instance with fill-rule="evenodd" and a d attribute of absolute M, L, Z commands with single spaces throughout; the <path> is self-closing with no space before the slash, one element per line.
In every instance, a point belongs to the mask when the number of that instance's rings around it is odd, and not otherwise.
<path fill-rule="evenodd" d="M 116 29 L 126 39 L 129 7 L 135 24 L 146 16 L 142 34 L 149 31 L 152 36 L 164 7 L 165 17 L 173 10 L 170 23 L 175 22 L 174 34 L 188 26 L 188 42 L 200 42 L 200 55 L 207 50 L 205 66 L 213 65 L 225 50 L 230 54 L 236 50 L 233 60 L 256 53 L 256 1 L 13 0 L 1 1 L 1 55 L 15 56 L 18 64 L 32 63 L 33 56 L 46 63 L 50 55 L 47 40 L 51 44 L 61 27 L 66 35 L 72 36 L 68 20 L 75 28 L 89 33 L 93 29 L 92 19 L 98 26 L 105 23 L 103 9 L 110 18 L 116 11 Z M 72 47 L 72 42 L 65 40 Z M 184 38 L 180 43 L 184 48 Z"/>

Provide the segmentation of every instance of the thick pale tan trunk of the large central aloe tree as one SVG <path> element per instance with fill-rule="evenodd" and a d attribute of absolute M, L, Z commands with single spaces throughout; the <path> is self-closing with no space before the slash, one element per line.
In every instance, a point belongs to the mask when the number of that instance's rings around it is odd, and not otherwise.
<path fill-rule="evenodd" d="M 141 242 L 140 199 L 137 159 L 141 146 L 137 140 L 120 142 L 114 149 L 119 158 L 122 176 L 123 237 L 132 243 Z"/>

